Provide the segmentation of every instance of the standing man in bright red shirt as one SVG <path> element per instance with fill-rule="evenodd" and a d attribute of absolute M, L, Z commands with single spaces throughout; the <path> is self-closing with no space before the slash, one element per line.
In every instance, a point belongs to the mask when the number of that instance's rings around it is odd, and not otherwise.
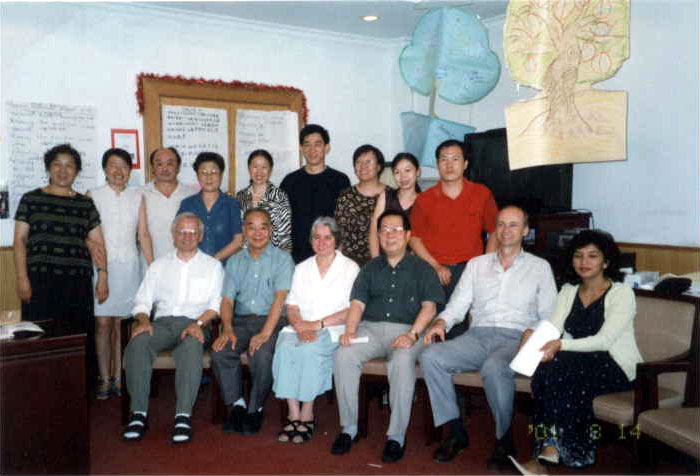
<path fill-rule="evenodd" d="M 411 248 L 437 271 L 449 301 L 467 262 L 484 254 L 482 231 L 488 233 L 486 253 L 496 251 L 498 207 L 484 185 L 464 178 L 469 161 L 464 143 L 446 140 L 435 150 L 440 181 L 418 195 L 411 212 Z M 441 311 L 442 309 L 439 309 Z M 454 329 L 449 337 L 465 327 Z"/>

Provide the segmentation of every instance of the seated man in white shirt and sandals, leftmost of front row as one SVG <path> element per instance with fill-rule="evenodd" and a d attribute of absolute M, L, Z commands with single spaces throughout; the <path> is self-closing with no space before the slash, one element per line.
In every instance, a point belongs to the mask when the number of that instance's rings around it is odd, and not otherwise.
<path fill-rule="evenodd" d="M 151 371 L 158 352 L 172 349 L 175 359 L 175 426 L 173 443 L 192 439 L 190 415 L 202 377 L 207 323 L 219 313 L 224 270 L 219 260 L 198 250 L 204 224 L 193 213 L 175 217 L 175 251 L 158 258 L 146 272 L 132 311 L 136 325 L 126 348 L 126 384 L 131 416 L 122 434 L 140 440 L 148 429 Z M 149 313 L 157 304 L 155 319 Z"/>

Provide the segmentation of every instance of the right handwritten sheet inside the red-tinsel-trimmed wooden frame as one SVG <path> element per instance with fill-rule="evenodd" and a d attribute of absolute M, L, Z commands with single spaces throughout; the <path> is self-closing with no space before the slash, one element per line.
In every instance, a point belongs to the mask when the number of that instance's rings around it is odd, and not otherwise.
<path fill-rule="evenodd" d="M 270 181 L 279 186 L 299 168 L 299 118 L 292 111 L 236 111 L 236 190 L 250 183 L 248 155 L 265 149 L 275 161 Z"/>

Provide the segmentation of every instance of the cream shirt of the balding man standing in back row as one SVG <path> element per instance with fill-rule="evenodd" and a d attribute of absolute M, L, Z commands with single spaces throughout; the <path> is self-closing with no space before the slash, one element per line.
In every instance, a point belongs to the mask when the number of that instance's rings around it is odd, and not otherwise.
<path fill-rule="evenodd" d="M 148 182 L 143 186 L 143 198 L 146 200 L 146 216 L 148 217 L 148 231 L 153 240 L 153 258 L 157 259 L 175 250 L 173 235 L 170 227 L 175 215 L 180 208 L 180 202 L 190 195 L 197 193 L 197 189 L 182 183 L 166 197 L 155 187 L 154 182 Z"/>

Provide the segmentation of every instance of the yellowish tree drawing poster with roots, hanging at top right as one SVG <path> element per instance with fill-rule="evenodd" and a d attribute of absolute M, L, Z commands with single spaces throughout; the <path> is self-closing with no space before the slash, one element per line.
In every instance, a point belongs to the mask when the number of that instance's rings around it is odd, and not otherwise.
<path fill-rule="evenodd" d="M 511 170 L 627 158 L 627 93 L 592 85 L 629 57 L 629 0 L 511 0 L 508 70 L 533 99 L 506 108 Z"/>

